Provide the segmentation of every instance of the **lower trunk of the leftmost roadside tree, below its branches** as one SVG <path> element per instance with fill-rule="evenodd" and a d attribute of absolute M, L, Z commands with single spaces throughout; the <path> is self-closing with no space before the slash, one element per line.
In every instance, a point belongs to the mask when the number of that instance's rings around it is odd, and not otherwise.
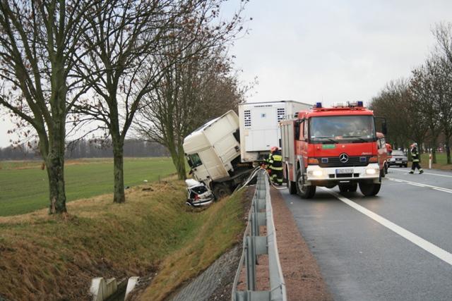
<path fill-rule="evenodd" d="M 51 149 L 45 158 L 49 177 L 50 214 L 66 213 L 66 192 L 64 190 L 64 152 L 58 147 Z"/>

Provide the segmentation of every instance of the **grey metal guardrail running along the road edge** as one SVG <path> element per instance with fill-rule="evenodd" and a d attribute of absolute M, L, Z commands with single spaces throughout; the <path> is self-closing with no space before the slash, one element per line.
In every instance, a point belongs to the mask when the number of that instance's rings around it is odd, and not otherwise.
<path fill-rule="evenodd" d="M 276 243 L 275 224 L 270 200 L 270 184 L 265 170 L 257 172 L 256 192 L 249 210 L 248 225 L 243 238 L 243 253 L 232 287 L 232 301 L 286 301 L 285 283 Z M 265 210 L 265 211 L 263 211 Z M 260 236 L 259 226 L 267 226 L 267 235 Z M 268 254 L 270 290 L 256 290 L 256 262 L 260 254 Z M 237 290 L 242 266 L 246 269 L 246 290 Z"/>

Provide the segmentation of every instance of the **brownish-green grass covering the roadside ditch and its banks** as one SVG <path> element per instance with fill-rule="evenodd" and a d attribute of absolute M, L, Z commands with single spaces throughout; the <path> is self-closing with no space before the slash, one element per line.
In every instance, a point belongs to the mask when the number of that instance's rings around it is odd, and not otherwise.
<path fill-rule="evenodd" d="M 162 180 L 126 199 L 70 202 L 69 218 L 45 209 L 0 217 L 0 296 L 88 300 L 93 277 L 156 275 L 141 300 L 162 300 L 241 239 L 241 193 L 198 211 L 186 206 L 183 181 Z"/>

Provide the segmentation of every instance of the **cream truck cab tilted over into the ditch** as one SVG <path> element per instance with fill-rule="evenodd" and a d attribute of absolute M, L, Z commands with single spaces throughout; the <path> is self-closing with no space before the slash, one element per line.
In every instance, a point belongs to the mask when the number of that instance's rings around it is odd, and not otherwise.
<path fill-rule="evenodd" d="M 210 185 L 230 178 L 232 161 L 240 155 L 239 117 L 234 111 L 209 121 L 184 139 L 184 152 L 196 180 Z"/>

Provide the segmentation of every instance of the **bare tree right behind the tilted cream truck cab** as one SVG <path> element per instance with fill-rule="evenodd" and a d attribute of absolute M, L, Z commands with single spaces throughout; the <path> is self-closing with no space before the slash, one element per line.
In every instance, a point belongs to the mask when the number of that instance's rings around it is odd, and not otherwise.
<path fill-rule="evenodd" d="M 205 49 L 188 57 L 165 70 L 136 121 L 142 139 L 167 147 L 179 179 L 186 178 L 184 137 L 206 121 L 237 109 L 245 92 L 221 51 Z"/>

